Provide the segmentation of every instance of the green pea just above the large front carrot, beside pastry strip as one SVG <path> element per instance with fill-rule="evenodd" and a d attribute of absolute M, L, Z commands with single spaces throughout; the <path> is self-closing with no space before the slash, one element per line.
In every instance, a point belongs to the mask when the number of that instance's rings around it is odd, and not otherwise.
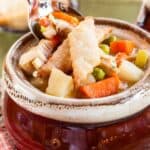
<path fill-rule="evenodd" d="M 105 78 L 106 73 L 100 68 L 95 68 L 93 71 L 93 76 L 95 77 L 96 81 L 100 81 Z"/>

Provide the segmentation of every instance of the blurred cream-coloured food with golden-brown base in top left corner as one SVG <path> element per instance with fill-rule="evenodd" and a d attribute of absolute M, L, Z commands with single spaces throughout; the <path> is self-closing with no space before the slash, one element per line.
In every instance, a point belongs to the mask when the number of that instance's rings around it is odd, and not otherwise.
<path fill-rule="evenodd" d="M 13 30 L 26 30 L 27 7 L 27 0 L 0 0 L 0 26 Z"/>

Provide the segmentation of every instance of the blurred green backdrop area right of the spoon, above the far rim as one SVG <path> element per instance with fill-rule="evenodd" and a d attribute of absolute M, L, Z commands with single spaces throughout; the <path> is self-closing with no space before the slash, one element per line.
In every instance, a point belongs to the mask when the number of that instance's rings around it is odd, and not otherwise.
<path fill-rule="evenodd" d="M 85 15 L 113 17 L 134 22 L 142 0 L 79 0 Z"/>

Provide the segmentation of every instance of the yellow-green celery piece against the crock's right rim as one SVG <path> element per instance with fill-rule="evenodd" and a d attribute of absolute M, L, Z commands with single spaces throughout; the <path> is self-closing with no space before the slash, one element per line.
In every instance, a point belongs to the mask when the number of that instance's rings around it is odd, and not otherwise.
<path fill-rule="evenodd" d="M 136 56 L 135 64 L 140 68 L 144 68 L 148 61 L 148 57 L 149 56 L 146 50 L 139 50 Z"/>

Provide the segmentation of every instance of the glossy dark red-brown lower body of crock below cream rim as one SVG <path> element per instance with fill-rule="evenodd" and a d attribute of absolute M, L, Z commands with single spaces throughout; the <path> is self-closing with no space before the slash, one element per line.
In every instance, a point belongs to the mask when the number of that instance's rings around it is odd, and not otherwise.
<path fill-rule="evenodd" d="M 20 150 L 148 150 L 150 107 L 113 125 L 79 125 L 40 117 L 5 94 L 5 124 Z M 55 115 L 55 114 L 53 114 Z"/>

